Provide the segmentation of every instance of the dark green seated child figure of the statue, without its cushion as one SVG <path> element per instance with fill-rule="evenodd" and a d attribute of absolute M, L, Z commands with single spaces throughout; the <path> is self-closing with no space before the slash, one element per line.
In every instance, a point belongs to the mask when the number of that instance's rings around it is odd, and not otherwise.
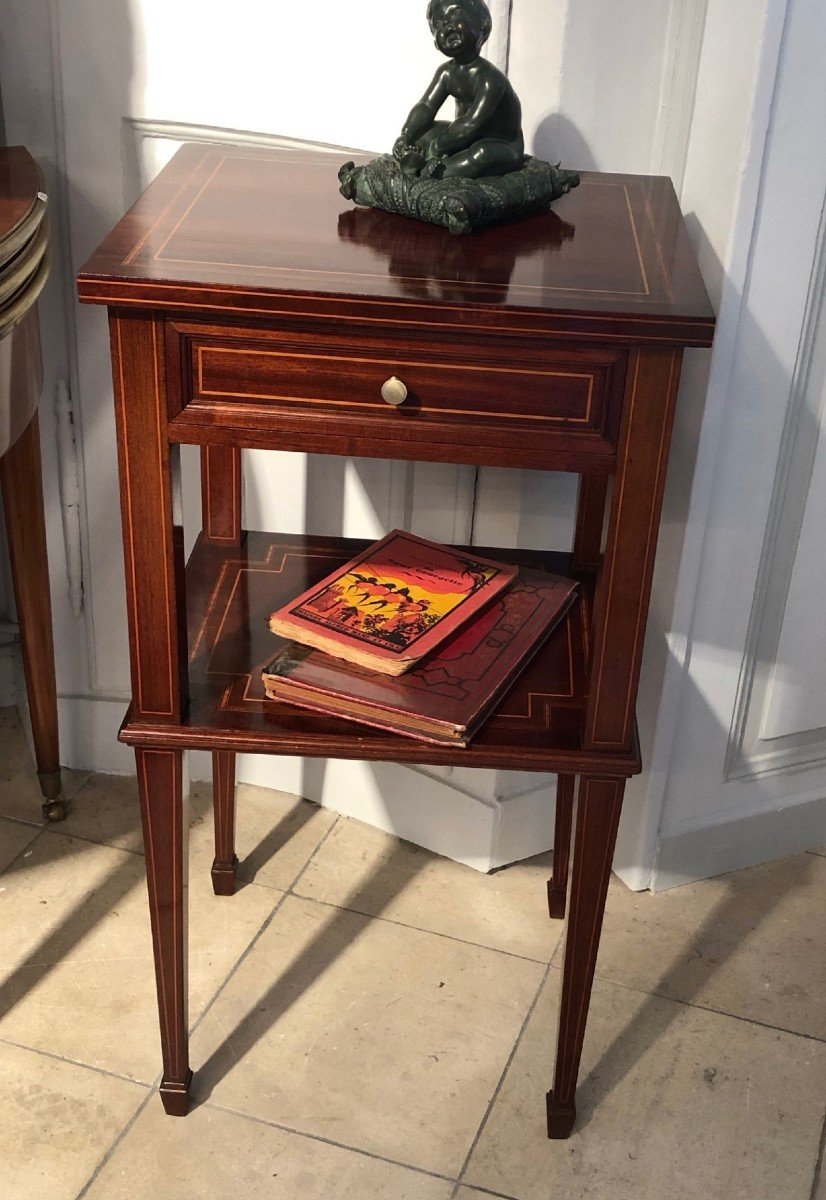
<path fill-rule="evenodd" d="M 394 157 L 406 175 L 435 179 L 519 170 L 525 163 L 522 107 L 507 77 L 480 55 L 492 29 L 485 0 L 431 0 L 427 22 L 450 61 L 412 109 Z M 437 121 L 449 96 L 456 119 Z"/>

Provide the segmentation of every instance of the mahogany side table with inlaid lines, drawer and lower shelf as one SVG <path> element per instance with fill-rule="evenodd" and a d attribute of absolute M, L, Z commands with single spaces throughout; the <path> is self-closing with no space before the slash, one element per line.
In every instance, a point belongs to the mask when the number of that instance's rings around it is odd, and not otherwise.
<path fill-rule="evenodd" d="M 454 238 L 354 210 L 327 154 L 184 146 L 79 276 L 109 310 L 134 746 L 167 1112 L 187 1109 L 182 754 L 214 755 L 215 889 L 234 886 L 235 754 L 555 772 L 552 914 L 579 805 L 549 1134 L 565 1138 L 624 784 L 686 347 L 714 318 L 671 184 L 583 175 L 550 214 Z M 407 386 L 400 406 L 382 384 Z M 176 450 L 202 446 L 188 564 Z M 355 553 L 245 533 L 243 446 L 576 472 L 581 601 L 467 749 L 264 701 L 267 614 Z M 607 484 L 613 491 L 606 518 Z"/>

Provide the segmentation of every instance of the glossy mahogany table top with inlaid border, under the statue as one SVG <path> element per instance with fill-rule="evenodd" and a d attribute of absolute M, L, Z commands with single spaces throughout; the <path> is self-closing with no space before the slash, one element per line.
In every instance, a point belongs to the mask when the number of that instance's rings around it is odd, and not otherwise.
<path fill-rule="evenodd" d="M 586 173 L 547 214 L 455 236 L 357 209 L 339 193 L 342 157 L 181 148 L 83 268 L 80 299 L 253 316 L 307 298 L 349 316 L 461 307 L 471 324 L 517 316 L 591 338 L 711 343 L 670 180 Z"/>

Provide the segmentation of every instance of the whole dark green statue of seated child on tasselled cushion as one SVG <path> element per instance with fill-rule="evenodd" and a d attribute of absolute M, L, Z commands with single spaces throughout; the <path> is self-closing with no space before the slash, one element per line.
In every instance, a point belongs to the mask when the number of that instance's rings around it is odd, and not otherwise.
<path fill-rule="evenodd" d="M 447 226 L 451 233 L 531 216 L 579 184 L 579 175 L 525 154 L 522 107 L 510 80 L 481 58 L 492 19 L 485 0 L 430 0 L 427 22 L 450 61 L 411 110 L 393 155 L 345 163 L 341 193 Z M 437 115 L 456 101 L 453 121 Z"/>

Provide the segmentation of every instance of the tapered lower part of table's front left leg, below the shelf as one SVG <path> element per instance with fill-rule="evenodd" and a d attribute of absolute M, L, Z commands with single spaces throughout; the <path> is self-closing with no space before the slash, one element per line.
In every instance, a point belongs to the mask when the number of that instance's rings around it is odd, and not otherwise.
<path fill-rule="evenodd" d="M 187 1027 L 187 832 L 184 755 L 136 750 L 155 979 L 161 1019 L 161 1099 L 169 1116 L 186 1116 L 192 1079 Z"/>

